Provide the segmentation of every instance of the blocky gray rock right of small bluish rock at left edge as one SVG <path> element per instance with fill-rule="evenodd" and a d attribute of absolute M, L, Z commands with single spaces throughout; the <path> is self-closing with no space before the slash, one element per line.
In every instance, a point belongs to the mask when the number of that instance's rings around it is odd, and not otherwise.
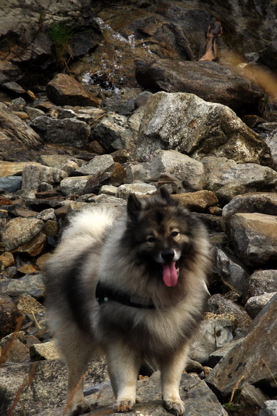
<path fill-rule="evenodd" d="M 37 191 L 42 182 L 59 184 L 67 176 L 67 173 L 61 169 L 41 164 L 31 164 L 22 171 L 22 189 L 34 189 Z"/>

